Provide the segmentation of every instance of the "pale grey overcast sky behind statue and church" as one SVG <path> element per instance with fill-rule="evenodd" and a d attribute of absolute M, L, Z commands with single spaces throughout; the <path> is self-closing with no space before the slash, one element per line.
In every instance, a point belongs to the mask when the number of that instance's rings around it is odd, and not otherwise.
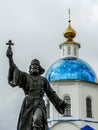
<path fill-rule="evenodd" d="M 8 85 L 6 42 L 14 42 L 13 58 L 21 70 L 28 72 L 37 58 L 47 71 L 61 58 L 69 8 L 74 40 L 81 44 L 79 58 L 98 76 L 98 0 L 0 0 L 0 130 L 16 130 L 24 98 L 20 88 Z"/>

